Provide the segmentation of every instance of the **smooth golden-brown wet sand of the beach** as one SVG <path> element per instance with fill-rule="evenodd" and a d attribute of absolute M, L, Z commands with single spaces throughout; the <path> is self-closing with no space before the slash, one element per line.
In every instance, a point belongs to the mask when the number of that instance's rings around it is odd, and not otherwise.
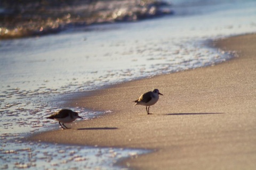
<path fill-rule="evenodd" d="M 255 34 L 219 40 L 216 47 L 236 50 L 239 57 L 74 95 L 65 99 L 66 107 L 113 112 L 30 139 L 154 150 L 120 162 L 136 169 L 254 169 L 255 44 Z M 153 88 L 164 96 L 147 115 L 145 106 L 132 101 Z"/>

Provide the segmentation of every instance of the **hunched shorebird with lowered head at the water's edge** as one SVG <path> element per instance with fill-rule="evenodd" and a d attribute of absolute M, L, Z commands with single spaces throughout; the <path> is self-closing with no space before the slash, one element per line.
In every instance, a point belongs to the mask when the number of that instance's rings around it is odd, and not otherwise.
<path fill-rule="evenodd" d="M 61 109 L 59 112 L 52 114 L 51 116 L 46 118 L 56 120 L 59 122 L 59 124 L 61 122 L 66 129 L 70 129 L 70 128 L 67 128 L 67 126 L 65 126 L 64 123 L 71 123 L 75 121 L 77 118 L 82 118 L 82 117 L 78 116 L 77 112 L 73 112 L 70 109 Z M 60 124 L 61 128 L 65 129 L 63 128 L 62 125 Z"/>

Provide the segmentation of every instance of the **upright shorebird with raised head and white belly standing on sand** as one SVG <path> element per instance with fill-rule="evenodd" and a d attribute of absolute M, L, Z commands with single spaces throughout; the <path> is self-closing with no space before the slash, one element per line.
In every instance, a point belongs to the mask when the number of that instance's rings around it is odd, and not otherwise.
<path fill-rule="evenodd" d="M 133 102 L 136 103 L 135 105 L 146 106 L 147 114 L 150 114 L 149 106 L 152 106 L 157 103 L 159 99 L 159 95 L 163 96 L 163 94 L 161 94 L 158 89 L 154 89 L 153 91 L 149 91 L 149 92 L 146 92 L 145 94 L 142 94 L 139 99 Z"/>

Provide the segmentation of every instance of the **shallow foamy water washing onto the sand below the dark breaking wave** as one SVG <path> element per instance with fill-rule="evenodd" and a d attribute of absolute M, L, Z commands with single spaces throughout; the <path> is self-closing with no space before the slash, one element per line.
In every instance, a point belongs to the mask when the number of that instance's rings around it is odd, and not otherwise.
<path fill-rule="evenodd" d="M 0 40 L 1 168 L 121 169 L 114 166 L 119 158 L 148 152 L 27 142 L 26 137 L 59 129 L 45 117 L 61 109 L 62 95 L 225 62 L 235 53 L 209 42 L 256 30 L 255 1 L 170 2 L 174 14 L 161 18 Z M 71 109 L 85 121 L 111 112 Z"/>

